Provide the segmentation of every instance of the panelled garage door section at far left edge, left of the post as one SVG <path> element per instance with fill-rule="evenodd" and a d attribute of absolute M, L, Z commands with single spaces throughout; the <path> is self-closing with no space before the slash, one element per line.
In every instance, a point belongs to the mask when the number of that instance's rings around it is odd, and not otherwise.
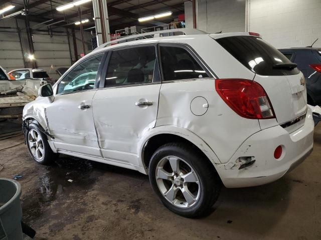
<path fill-rule="evenodd" d="M 7 71 L 25 66 L 15 19 L 0 21 L 0 65 Z"/>

